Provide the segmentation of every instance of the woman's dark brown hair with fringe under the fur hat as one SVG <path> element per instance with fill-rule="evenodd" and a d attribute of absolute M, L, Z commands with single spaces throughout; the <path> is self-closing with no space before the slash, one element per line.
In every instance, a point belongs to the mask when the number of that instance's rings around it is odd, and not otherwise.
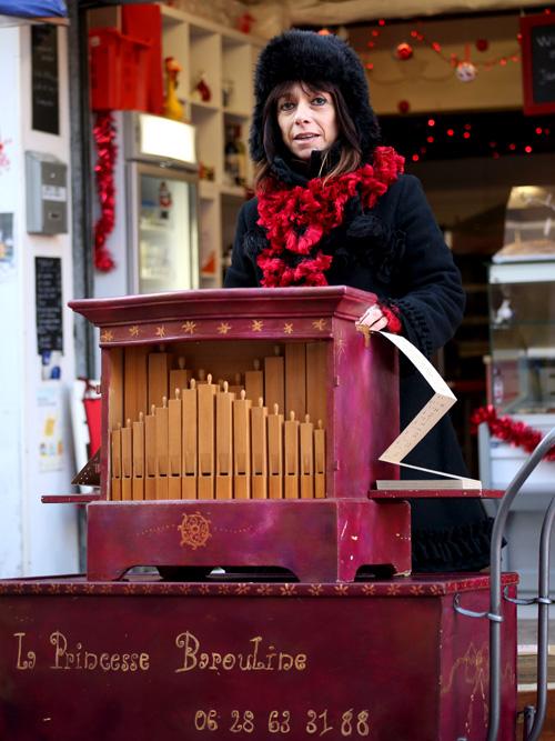
<path fill-rule="evenodd" d="M 271 90 L 266 98 L 262 111 L 262 140 L 264 147 L 264 158 L 254 163 L 254 188 L 264 188 L 264 181 L 270 174 L 270 167 L 276 156 L 286 150 L 282 133 L 278 124 L 278 101 L 285 96 L 294 86 L 294 81 L 280 82 Z M 352 172 L 360 167 L 362 162 L 362 149 L 356 127 L 351 118 L 349 108 L 341 90 L 331 82 L 303 82 L 299 84 L 304 92 L 327 92 L 333 101 L 335 117 L 339 130 L 339 140 L 341 142 L 340 159 L 325 173 L 325 180 Z M 329 150 L 324 152 L 322 167 L 325 167 Z"/>

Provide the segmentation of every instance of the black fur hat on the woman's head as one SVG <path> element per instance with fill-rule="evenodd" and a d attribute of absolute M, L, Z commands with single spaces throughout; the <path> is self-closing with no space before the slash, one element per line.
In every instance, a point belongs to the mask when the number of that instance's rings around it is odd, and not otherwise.
<path fill-rule="evenodd" d="M 249 146 L 252 159 L 265 158 L 263 110 L 268 96 L 282 82 L 331 82 L 341 90 L 359 132 L 362 158 L 372 159 L 380 127 L 370 104 L 366 74 L 353 49 L 336 36 L 285 31 L 262 50 L 254 73 L 255 106 Z"/>

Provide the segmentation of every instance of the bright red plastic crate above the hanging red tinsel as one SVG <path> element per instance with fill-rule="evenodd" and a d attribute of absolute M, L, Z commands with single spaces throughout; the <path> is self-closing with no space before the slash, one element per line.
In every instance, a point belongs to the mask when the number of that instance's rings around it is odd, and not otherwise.
<path fill-rule="evenodd" d="M 89 31 L 92 110 L 148 110 L 149 49 L 114 28 Z"/>

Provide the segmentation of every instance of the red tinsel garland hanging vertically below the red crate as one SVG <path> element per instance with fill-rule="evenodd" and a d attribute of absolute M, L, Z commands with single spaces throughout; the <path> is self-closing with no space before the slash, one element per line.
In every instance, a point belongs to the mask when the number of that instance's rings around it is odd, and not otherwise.
<path fill-rule="evenodd" d="M 94 224 L 94 267 L 102 272 L 109 272 L 115 267 L 110 250 L 105 247 L 115 220 L 113 168 L 118 148 L 115 147 L 115 126 L 112 112 L 97 113 L 92 131 L 98 152 L 94 172 L 97 173 L 97 192 L 100 203 L 100 217 Z"/>

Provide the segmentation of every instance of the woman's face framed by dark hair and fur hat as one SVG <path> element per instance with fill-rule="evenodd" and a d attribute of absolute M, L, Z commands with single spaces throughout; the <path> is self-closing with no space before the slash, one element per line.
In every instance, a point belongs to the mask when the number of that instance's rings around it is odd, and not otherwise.
<path fill-rule="evenodd" d="M 331 94 L 299 82 L 278 99 L 278 124 L 285 146 L 300 160 L 310 159 L 314 150 L 327 149 L 337 138 Z"/>

